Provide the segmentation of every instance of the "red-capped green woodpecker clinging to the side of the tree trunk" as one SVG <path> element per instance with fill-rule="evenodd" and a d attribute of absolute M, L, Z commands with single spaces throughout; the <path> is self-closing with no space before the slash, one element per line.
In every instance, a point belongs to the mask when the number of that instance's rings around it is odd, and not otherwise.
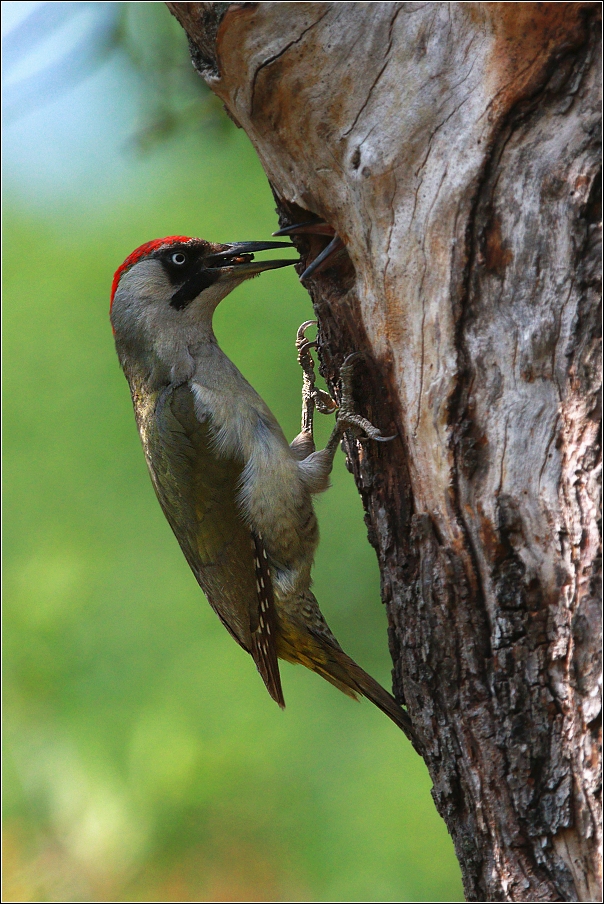
<path fill-rule="evenodd" d="M 283 242 L 220 244 L 182 235 L 146 242 L 115 272 L 110 319 L 151 481 L 210 606 L 285 706 L 279 659 L 300 663 L 353 698 L 371 700 L 409 737 L 411 719 L 340 647 L 312 592 L 318 544 L 313 496 L 345 430 L 388 441 L 354 410 L 353 353 L 340 404 L 315 386 L 306 321 L 296 334 L 302 430 L 290 444 L 276 418 L 222 351 L 219 303 L 244 280 L 298 260 L 256 260 Z M 313 416 L 337 411 L 322 450 Z"/>

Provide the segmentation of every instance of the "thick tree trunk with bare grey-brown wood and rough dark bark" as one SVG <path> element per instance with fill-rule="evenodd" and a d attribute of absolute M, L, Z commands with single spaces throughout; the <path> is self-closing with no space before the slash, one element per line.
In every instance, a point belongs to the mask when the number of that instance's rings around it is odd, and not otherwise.
<path fill-rule="evenodd" d="M 599 899 L 599 4 L 169 3 L 310 281 L 469 900 Z M 300 243 L 316 254 L 321 240 Z"/>

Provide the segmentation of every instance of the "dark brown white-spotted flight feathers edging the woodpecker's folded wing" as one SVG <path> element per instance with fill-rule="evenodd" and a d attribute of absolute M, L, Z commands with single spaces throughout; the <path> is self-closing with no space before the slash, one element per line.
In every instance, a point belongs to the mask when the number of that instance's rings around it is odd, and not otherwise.
<path fill-rule="evenodd" d="M 277 617 L 275 614 L 275 597 L 273 584 L 266 558 L 262 537 L 252 534 L 252 552 L 256 570 L 256 589 L 258 591 L 258 626 L 252 631 L 252 656 L 256 668 L 266 684 L 266 689 L 279 706 L 285 708 L 279 661 L 275 649 L 277 637 Z"/>

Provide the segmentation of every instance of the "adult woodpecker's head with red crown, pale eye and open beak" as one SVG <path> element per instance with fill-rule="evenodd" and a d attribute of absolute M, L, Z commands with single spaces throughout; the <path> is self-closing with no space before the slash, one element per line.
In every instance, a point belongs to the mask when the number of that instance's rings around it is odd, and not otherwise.
<path fill-rule="evenodd" d="M 284 242 L 220 245 L 173 235 L 146 242 L 118 267 L 111 288 L 111 325 L 118 350 L 169 356 L 170 347 L 212 336 L 212 315 L 229 292 L 264 270 L 297 260 L 256 261 Z"/>

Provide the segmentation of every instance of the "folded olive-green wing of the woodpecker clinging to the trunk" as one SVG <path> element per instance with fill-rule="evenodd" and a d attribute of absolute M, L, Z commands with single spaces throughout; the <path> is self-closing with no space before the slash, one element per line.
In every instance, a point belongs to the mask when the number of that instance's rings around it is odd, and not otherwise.
<path fill-rule="evenodd" d="M 187 385 L 168 387 L 146 405 L 135 399 L 135 409 L 157 497 L 191 570 L 283 706 L 270 575 L 266 566 L 267 602 L 266 594 L 258 592 L 257 553 L 263 560 L 262 547 L 256 546 L 237 499 L 243 464 L 216 453 L 210 427 L 197 418 Z M 271 612 L 263 612 L 261 604 L 272 607 Z"/>

